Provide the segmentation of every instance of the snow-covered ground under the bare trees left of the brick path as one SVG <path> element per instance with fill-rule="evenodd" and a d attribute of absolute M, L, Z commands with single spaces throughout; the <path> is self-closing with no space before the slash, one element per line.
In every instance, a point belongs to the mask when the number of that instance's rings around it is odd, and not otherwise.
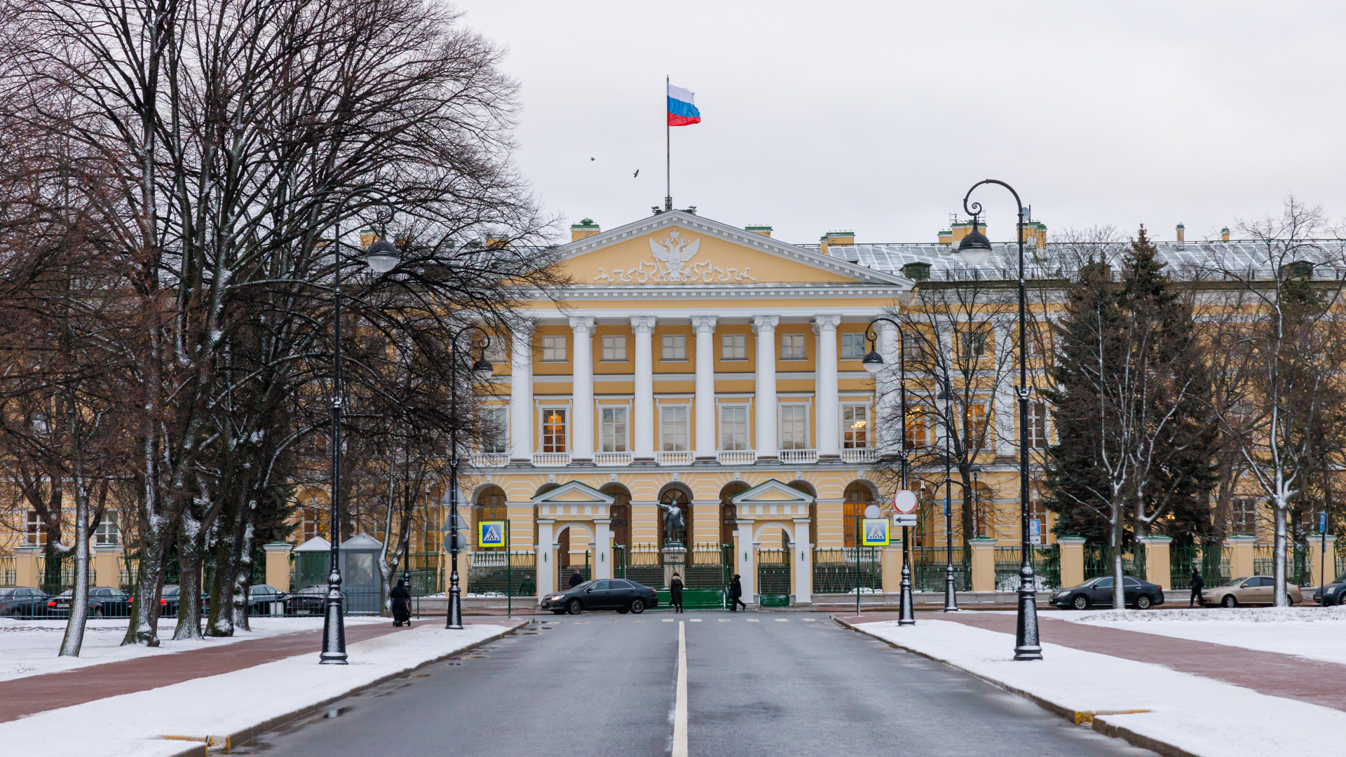
<path fill-rule="evenodd" d="M 388 618 L 376 617 L 347 617 L 346 625 L 363 622 L 388 622 Z M 78 657 L 58 657 L 61 640 L 66 633 L 66 621 L 20 621 L 0 618 L 0 680 L 9 680 L 31 675 L 55 673 L 100 663 L 116 663 L 133 657 L 148 657 L 152 655 L 172 655 L 188 649 L 202 649 L 219 644 L 233 644 L 248 638 L 264 638 L 295 633 L 299 630 L 315 630 L 323 626 L 322 617 L 295 617 L 295 618 L 252 618 L 252 632 L 237 632 L 229 637 L 210 638 L 205 641 L 174 641 L 172 632 L 178 626 L 176 620 L 160 618 L 159 621 L 159 648 L 148 647 L 121 647 L 121 637 L 127 634 L 125 620 L 90 620 L 85 628 L 83 645 Z"/>

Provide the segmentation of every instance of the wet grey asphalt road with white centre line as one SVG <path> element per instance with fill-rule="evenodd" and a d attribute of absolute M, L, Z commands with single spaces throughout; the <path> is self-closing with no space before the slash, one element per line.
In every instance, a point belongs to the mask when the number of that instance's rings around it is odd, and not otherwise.
<path fill-rule="evenodd" d="M 1143 756 L 805 613 L 565 616 L 351 696 L 234 753 L 660 756 L 678 621 L 692 756 Z"/>

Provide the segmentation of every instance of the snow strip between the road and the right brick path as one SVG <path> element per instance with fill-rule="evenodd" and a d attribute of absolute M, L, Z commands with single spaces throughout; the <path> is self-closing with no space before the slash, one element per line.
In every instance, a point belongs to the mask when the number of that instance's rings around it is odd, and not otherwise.
<path fill-rule="evenodd" d="M 923 620 L 907 628 L 883 621 L 860 628 L 1067 711 L 1104 717 L 1108 723 L 1201 757 L 1342 754 L 1346 713 L 1329 707 L 1055 644 L 1043 644 L 1043 660 L 1016 663 L 1012 634 L 949 621 Z M 1308 722 L 1315 723 L 1312 729 L 1287 727 Z"/>

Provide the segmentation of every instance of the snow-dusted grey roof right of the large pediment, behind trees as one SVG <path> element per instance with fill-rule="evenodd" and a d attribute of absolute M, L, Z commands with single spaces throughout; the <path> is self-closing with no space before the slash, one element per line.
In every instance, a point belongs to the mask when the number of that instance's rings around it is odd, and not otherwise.
<path fill-rule="evenodd" d="M 810 249 L 820 249 L 821 245 L 798 245 Z M 1129 244 L 1117 242 L 1102 245 L 1108 263 L 1116 263 L 1129 249 Z M 1225 272 L 1236 273 L 1242 279 L 1271 279 L 1272 271 L 1268 265 L 1268 253 L 1264 245 L 1249 241 L 1195 241 L 1184 242 L 1155 242 L 1159 259 L 1168 264 L 1167 272 L 1176 279 L 1224 279 Z M 1019 248 L 1015 244 L 992 244 L 991 259 L 977 269 L 981 279 L 1018 279 L 1019 277 Z M 1047 244 L 1046 246 L 1024 248 L 1024 273 L 1027 279 L 1063 279 L 1074 275 L 1078 267 L 1078 245 Z M 1315 263 L 1315 279 L 1342 279 L 1346 277 L 1346 264 L 1343 264 L 1343 249 L 1346 241 L 1322 240 L 1295 251 L 1287 257 L 1291 260 L 1308 260 Z M 829 245 L 828 253 L 843 260 L 886 271 L 900 273 L 902 267 L 909 263 L 925 263 L 930 265 L 930 279 L 962 280 L 972 277 L 972 269 L 964 265 L 957 255 L 957 245 L 944 244 L 851 244 Z"/>

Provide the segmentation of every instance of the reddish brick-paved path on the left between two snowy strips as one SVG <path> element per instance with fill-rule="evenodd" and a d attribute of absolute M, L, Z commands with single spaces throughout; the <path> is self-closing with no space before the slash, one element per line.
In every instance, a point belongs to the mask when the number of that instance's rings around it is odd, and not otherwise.
<path fill-rule="evenodd" d="M 463 622 L 491 624 L 499 622 L 499 618 L 463 618 Z M 444 621 L 435 618 L 413 621 L 413 625 L 425 624 L 443 625 Z M 390 620 L 378 624 L 347 625 L 346 644 L 350 645 L 398 630 L 402 629 L 393 628 Z M 267 638 L 221 644 L 215 648 L 136 657 L 0 682 L 0 723 L 34 713 L 83 704 L 94 699 L 240 671 L 295 655 L 312 653 L 316 665 L 318 652 L 323 647 L 322 640 L 322 629 L 300 630 Z"/>

